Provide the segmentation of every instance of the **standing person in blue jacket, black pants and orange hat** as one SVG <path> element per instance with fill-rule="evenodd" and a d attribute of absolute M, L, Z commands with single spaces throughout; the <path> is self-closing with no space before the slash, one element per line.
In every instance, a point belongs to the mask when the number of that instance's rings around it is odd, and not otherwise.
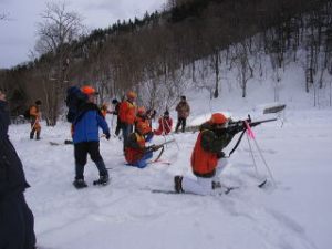
<path fill-rule="evenodd" d="M 87 154 L 90 154 L 100 173 L 100 178 L 94 184 L 106 185 L 108 183 L 108 172 L 100 153 L 98 127 L 103 129 L 106 139 L 111 137 L 108 125 L 95 104 L 97 92 L 91 86 L 83 86 L 81 91 L 87 95 L 87 102 L 81 107 L 73 123 L 75 156 L 75 180 L 73 185 L 76 188 L 87 187 L 84 181 L 84 166 Z"/>

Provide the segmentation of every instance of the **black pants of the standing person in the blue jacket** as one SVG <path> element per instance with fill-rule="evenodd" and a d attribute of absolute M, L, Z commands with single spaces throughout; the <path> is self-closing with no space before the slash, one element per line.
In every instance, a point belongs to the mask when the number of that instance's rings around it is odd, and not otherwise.
<path fill-rule="evenodd" d="M 82 142 L 74 145 L 74 154 L 75 154 L 75 179 L 84 179 L 84 166 L 87 160 L 87 154 L 91 159 L 95 163 L 100 175 L 105 176 L 108 175 L 107 169 L 105 167 L 103 157 L 100 153 L 100 142 Z"/>

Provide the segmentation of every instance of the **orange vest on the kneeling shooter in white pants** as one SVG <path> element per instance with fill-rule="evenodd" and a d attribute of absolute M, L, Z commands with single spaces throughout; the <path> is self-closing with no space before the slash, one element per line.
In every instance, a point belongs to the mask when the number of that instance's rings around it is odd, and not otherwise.
<path fill-rule="evenodd" d="M 206 152 L 200 145 L 204 132 L 199 133 L 191 154 L 191 168 L 198 175 L 214 174 L 218 164 L 217 153 Z"/>

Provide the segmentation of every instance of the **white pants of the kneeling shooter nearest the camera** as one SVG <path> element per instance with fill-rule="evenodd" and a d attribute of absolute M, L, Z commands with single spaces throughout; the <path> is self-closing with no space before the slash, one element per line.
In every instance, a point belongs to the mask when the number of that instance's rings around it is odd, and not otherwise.
<path fill-rule="evenodd" d="M 214 195 L 215 191 L 212 189 L 212 181 L 219 181 L 219 176 L 221 172 L 227 166 L 227 158 L 221 158 L 218 160 L 218 165 L 216 167 L 216 175 L 210 178 L 197 177 L 197 179 L 191 179 L 188 177 L 183 178 L 183 189 L 185 193 L 193 193 L 196 195 Z"/>

